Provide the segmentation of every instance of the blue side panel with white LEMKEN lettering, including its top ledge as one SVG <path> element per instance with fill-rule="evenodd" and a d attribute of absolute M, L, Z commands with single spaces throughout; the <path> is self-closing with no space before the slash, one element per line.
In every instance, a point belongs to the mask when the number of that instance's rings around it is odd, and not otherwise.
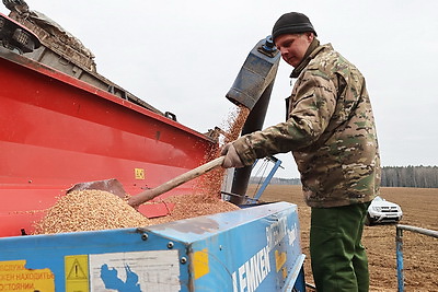
<path fill-rule="evenodd" d="M 182 220 L 150 231 L 187 243 L 191 256 L 206 253 L 208 272 L 191 277 L 195 291 L 288 291 L 303 261 L 297 207 L 287 202 Z M 191 268 L 196 273 L 196 265 Z"/>

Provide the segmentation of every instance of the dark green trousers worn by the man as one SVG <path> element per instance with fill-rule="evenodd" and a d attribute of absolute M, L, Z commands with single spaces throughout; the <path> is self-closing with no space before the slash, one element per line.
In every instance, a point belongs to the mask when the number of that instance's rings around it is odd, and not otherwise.
<path fill-rule="evenodd" d="M 312 208 L 310 257 L 318 292 L 368 291 L 368 258 L 360 241 L 369 205 Z"/>

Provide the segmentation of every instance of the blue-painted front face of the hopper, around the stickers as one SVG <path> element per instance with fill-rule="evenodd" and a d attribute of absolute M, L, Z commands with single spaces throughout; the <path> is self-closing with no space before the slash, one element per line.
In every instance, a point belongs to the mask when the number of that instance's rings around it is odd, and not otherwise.
<path fill-rule="evenodd" d="M 32 235 L 22 237 L 7 237 L 0 240 L 0 266 L 7 260 L 26 260 L 26 269 L 38 270 L 48 268 L 55 276 L 56 291 L 66 290 L 66 278 L 69 271 L 65 268 L 66 256 L 87 255 L 89 260 L 94 255 L 136 255 L 132 252 L 169 250 L 169 240 L 154 234 L 148 234 L 145 241 L 141 231 L 136 229 L 108 230 L 97 232 L 77 232 L 55 235 Z M 172 249 L 177 250 L 173 265 L 178 267 L 180 256 L 185 255 L 185 245 L 172 243 Z M 139 257 L 138 255 L 136 255 Z M 158 257 L 160 258 L 160 256 Z M 141 261 L 141 257 L 137 261 Z M 180 267 L 180 282 L 188 283 L 186 266 Z M 90 266 L 85 267 L 90 291 L 93 283 L 90 281 Z M 12 283 L 21 283 L 15 280 Z M 33 290 L 30 290 L 33 292 Z M 94 290 L 99 291 L 99 290 Z M 184 291 L 184 290 L 182 290 Z M 185 290 L 186 291 L 186 290 Z"/>

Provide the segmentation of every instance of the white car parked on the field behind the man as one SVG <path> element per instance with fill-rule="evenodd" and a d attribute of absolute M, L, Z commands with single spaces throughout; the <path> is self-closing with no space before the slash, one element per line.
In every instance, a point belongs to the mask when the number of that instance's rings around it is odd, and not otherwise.
<path fill-rule="evenodd" d="M 368 207 L 367 225 L 377 223 L 397 223 L 403 217 L 402 208 L 394 202 L 377 196 Z"/>

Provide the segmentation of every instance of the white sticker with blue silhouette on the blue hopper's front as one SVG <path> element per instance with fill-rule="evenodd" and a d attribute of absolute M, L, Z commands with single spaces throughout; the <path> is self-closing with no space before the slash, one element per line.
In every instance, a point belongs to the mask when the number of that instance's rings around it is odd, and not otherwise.
<path fill-rule="evenodd" d="M 180 291 L 178 253 L 148 250 L 90 255 L 90 283 L 91 291 Z"/>

